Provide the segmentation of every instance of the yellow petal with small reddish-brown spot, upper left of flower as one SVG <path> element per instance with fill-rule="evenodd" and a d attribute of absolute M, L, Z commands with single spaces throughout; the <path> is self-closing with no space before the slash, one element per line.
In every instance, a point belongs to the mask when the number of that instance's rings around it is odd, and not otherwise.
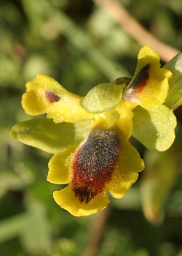
<path fill-rule="evenodd" d="M 53 118 L 55 123 L 62 121 L 74 122 L 92 118 L 93 115 L 79 105 L 81 97 L 72 94 L 47 75 L 37 75 L 36 79 L 26 83 L 22 105 L 31 116 L 47 113 L 47 118 Z"/>

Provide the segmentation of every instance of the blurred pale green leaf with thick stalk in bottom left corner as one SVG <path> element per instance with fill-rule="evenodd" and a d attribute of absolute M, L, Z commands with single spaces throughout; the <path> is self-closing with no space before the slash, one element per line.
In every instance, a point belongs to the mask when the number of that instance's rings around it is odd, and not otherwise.
<path fill-rule="evenodd" d="M 29 252 L 41 252 L 50 249 L 51 227 L 44 206 L 34 199 L 28 201 L 28 211 L 0 222 L 0 243 L 20 236 Z"/>

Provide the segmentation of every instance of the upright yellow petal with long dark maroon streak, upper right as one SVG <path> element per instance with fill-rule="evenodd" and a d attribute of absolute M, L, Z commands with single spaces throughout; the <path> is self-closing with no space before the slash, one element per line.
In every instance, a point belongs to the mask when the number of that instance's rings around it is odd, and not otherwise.
<path fill-rule="evenodd" d="M 146 109 L 157 108 L 165 102 L 170 78 L 172 73 L 160 68 L 159 53 L 146 45 L 138 54 L 135 75 L 124 92 L 124 98 Z"/>

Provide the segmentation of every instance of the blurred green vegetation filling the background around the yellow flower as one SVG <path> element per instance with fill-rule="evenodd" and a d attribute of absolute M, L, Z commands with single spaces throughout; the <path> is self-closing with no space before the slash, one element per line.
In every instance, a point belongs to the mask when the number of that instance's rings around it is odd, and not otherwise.
<path fill-rule="evenodd" d="M 181 0 L 120 3 L 151 34 L 182 50 Z M 173 148 L 154 156 L 132 139 L 146 170 L 122 200 L 111 198 L 108 209 L 90 217 L 72 217 L 53 200 L 52 192 L 61 186 L 46 181 L 50 154 L 9 137 L 14 124 L 31 118 L 21 107 L 21 95 L 37 73 L 84 96 L 98 83 L 132 77 L 141 46 L 92 1 L 1 1 L 0 255 L 182 255 L 181 108 L 175 110 Z M 164 159 L 170 159 L 169 176 Z M 155 224 L 141 206 L 147 169 L 151 176 L 162 170 L 157 191 L 164 194 L 162 213 Z M 170 177 L 165 192 L 161 177 Z"/>

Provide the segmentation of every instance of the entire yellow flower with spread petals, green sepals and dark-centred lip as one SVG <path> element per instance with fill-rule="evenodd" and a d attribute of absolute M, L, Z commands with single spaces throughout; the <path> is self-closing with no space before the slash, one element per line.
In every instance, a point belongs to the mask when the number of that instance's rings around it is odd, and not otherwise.
<path fill-rule="evenodd" d="M 26 84 L 22 105 L 36 118 L 16 124 L 12 138 L 55 154 L 47 181 L 68 184 L 54 199 L 74 216 L 90 215 L 123 197 L 144 168 L 133 135 L 152 150 L 165 151 L 175 139 L 176 119 L 165 99 L 172 72 L 159 54 L 144 46 L 135 74 L 101 83 L 85 97 L 72 94 L 46 75 Z M 171 102 L 175 105 L 175 102 Z"/>

